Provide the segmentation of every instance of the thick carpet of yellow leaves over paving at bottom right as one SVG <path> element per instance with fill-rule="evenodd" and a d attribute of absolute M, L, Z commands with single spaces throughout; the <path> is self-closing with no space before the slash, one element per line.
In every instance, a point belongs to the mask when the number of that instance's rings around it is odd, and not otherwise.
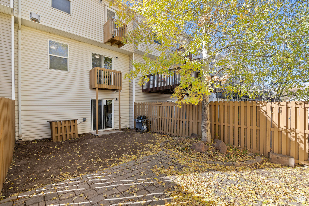
<path fill-rule="evenodd" d="M 309 205 L 308 166 L 290 168 L 266 160 L 260 165 L 224 167 L 197 163 L 192 153 L 170 155 L 187 168 L 153 171 L 174 179 L 177 187 L 167 194 L 175 205 Z"/>

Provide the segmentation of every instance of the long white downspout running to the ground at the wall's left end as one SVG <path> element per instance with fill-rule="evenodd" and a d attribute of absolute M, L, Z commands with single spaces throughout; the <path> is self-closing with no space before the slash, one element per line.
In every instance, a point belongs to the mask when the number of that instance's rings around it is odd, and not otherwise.
<path fill-rule="evenodd" d="M 21 0 L 18 1 L 18 128 L 19 139 L 22 139 L 21 130 Z"/>

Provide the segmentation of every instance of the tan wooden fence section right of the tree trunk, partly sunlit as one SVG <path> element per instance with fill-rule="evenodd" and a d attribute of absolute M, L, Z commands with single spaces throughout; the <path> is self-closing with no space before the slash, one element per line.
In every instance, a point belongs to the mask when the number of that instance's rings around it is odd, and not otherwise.
<path fill-rule="evenodd" d="M 211 103 L 211 134 L 266 157 L 274 152 L 308 165 L 308 107 L 308 102 Z"/>

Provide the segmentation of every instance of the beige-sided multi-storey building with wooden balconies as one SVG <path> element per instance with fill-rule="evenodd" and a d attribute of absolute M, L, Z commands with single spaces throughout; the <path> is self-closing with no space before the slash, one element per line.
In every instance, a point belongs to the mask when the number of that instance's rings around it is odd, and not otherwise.
<path fill-rule="evenodd" d="M 78 133 L 118 129 L 119 103 L 121 128 L 132 128 L 134 102 L 171 100 L 123 78 L 146 49 L 120 41 L 133 23 L 110 29 L 115 10 L 99 0 L 0 0 L 0 96 L 15 99 L 16 140 L 51 137 L 48 120 L 78 119 Z"/>

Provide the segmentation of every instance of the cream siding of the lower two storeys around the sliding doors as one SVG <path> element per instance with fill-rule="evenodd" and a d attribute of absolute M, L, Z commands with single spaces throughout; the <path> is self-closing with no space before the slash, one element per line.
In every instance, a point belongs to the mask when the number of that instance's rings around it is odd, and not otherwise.
<path fill-rule="evenodd" d="M 86 118 L 78 124 L 78 133 L 91 132 L 91 98 L 89 89 L 91 53 L 113 57 L 114 68 L 129 72 L 129 56 L 107 49 L 61 38 L 22 26 L 21 113 L 22 139 L 51 137 L 47 120 Z M 48 40 L 69 44 L 69 71 L 48 69 Z M 118 57 L 116 60 L 115 57 Z M 114 91 L 99 90 L 99 99 L 114 100 L 114 125 L 118 128 L 118 103 Z M 129 82 L 122 80 L 121 127 L 129 125 Z"/>

